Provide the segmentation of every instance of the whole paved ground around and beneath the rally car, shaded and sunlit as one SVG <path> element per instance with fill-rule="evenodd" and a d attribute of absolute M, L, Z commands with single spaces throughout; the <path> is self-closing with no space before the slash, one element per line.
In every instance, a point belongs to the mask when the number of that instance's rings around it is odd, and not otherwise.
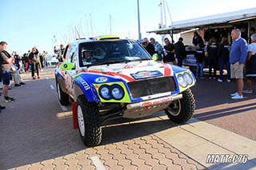
<path fill-rule="evenodd" d="M 246 129 L 244 126 L 237 128 L 229 121 L 246 121 L 245 126 L 254 129 L 255 125 L 250 123 L 255 118 L 254 97 L 230 101 L 226 93 L 233 90 L 234 83 L 223 83 L 230 89 L 210 96 L 204 95 L 210 91 L 201 89 L 202 85 L 210 84 L 215 90 L 219 84 L 203 80 L 193 89 L 198 99 L 195 117 L 212 125 L 197 119 L 177 125 L 164 113 L 139 120 L 120 119 L 103 126 L 100 146 L 86 148 L 78 130 L 72 127 L 70 106 L 61 108 L 58 104 L 52 72 L 53 69 L 46 69 L 37 81 L 23 74 L 26 85 L 10 90 L 17 101 L 4 104 L 6 109 L 0 113 L 0 169 L 248 169 L 256 166 L 255 131 L 242 133 L 240 128 Z M 213 101 L 218 94 L 222 101 Z M 229 113 L 230 106 L 234 114 Z M 237 120 L 241 115 L 237 112 L 242 113 L 241 120 Z M 252 120 L 245 114 L 252 115 Z M 207 153 L 243 153 L 250 160 L 246 164 L 206 164 Z"/>

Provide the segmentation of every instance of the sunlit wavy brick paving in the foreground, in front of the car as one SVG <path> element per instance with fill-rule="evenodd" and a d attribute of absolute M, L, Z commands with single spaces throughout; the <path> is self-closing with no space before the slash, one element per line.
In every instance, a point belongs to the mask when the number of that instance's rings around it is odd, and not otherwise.
<path fill-rule="evenodd" d="M 79 152 L 23 165 L 14 169 L 97 169 L 91 157 L 97 156 L 106 169 L 205 169 L 154 135 L 120 141 Z"/>

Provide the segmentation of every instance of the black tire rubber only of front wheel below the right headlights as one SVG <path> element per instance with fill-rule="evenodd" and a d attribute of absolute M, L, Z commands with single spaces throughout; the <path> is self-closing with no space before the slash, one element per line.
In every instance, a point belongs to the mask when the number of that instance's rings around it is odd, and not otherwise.
<path fill-rule="evenodd" d="M 168 109 L 165 109 L 165 112 L 170 118 L 170 121 L 174 121 L 178 124 L 189 121 L 190 118 L 193 117 L 195 109 L 194 95 L 191 89 L 186 89 L 184 92 L 182 92 L 182 96 L 182 99 L 179 99 L 181 103 L 181 110 L 177 116 L 170 114 Z"/>

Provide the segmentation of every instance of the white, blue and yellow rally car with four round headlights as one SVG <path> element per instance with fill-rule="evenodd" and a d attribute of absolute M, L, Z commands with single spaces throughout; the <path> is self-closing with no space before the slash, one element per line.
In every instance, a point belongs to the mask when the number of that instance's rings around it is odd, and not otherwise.
<path fill-rule="evenodd" d="M 113 35 L 78 40 L 66 46 L 63 58 L 55 70 L 58 100 L 73 101 L 74 125 L 88 147 L 101 143 L 101 126 L 108 120 L 160 110 L 177 123 L 193 117 L 194 74 L 154 61 L 134 40 Z"/>

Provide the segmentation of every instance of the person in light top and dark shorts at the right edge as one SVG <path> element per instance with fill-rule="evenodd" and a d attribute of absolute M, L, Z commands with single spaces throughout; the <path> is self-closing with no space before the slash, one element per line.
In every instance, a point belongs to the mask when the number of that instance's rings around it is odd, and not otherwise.
<path fill-rule="evenodd" d="M 250 36 L 251 44 L 248 45 L 246 58 L 246 82 L 247 89 L 243 93 L 253 93 L 252 80 L 256 77 L 256 34 Z"/>

